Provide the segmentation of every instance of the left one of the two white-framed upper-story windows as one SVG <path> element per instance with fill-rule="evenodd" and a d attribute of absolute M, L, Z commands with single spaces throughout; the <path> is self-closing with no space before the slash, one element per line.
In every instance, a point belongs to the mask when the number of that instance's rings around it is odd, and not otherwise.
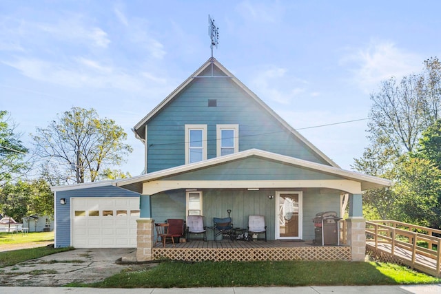
<path fill-rule="evenodd" d="M 185 163 L 207 159 L 207 125 L 185 125 Z"/>

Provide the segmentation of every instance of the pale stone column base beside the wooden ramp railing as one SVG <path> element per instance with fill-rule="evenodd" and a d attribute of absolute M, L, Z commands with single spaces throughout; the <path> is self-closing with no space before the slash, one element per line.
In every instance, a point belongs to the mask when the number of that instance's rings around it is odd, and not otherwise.
<path fill-rule="evenodd" d="M 366 255 L 366 222 L 364 218 L 347 218 L 347 243 L 352 261 L 364 261 Z"/>

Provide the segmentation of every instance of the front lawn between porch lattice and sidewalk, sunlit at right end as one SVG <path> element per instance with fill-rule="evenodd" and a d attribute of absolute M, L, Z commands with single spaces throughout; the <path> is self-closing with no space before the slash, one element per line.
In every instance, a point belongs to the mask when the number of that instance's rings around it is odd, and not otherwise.
<path fill-rule="evenodd" d="M 100 288 L 435 284 L 441 280 L 378 262 L 161 262 L 93 284 Z"/>

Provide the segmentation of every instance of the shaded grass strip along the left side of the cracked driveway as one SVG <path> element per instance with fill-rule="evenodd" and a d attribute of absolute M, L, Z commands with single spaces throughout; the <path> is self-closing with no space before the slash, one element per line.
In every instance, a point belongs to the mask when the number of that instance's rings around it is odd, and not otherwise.
<path fill-rule="evenodd" d="M 34 260 L 35 258 L 42 258 L 43 256 L 70 251 L 72 247 L 64 248 L 52 248 L 52 247 L 37 247 L 32 249 L 21 249 L 0 252 L 0 268 L 5 266 L 12 266 L 18 264 L 19 262 L 25 262 L 26 260 Z"/>

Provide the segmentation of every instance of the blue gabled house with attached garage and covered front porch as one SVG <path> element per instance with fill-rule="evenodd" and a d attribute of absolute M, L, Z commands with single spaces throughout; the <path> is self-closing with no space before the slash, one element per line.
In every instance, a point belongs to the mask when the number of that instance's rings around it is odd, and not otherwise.
<path fill-rule="evenodd" d="M 189 215 L 241 228 L 262 215 L 268 240 L 313 240 L 316 213 L 349 202 L 347 245 L 364 258 L 362 191 L 391 182 L 340 169 L 213 57 L 133 130 L 143 175 L 52 187 L 55 246 L 136 247 L 149 260 L 153 222 Z"/>

